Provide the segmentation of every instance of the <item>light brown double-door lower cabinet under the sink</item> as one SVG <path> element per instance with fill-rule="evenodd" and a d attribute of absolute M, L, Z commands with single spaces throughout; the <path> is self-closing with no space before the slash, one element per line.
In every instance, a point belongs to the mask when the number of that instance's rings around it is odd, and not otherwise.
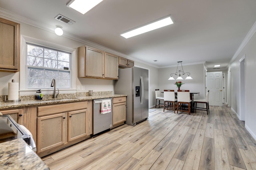
<path fill-rule="evenodd" d="M 88 139 L 92 134 L 91 101 L 38 106 L 37 114 L 40 157 Z"/>

